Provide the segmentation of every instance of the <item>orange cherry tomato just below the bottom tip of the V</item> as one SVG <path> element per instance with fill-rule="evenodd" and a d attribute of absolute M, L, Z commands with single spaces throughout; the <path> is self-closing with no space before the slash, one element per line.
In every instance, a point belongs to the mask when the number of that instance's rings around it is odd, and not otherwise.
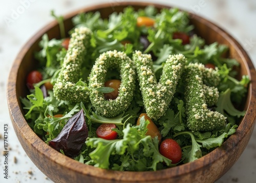
<path fill-rule="evenodd" d="M 149 120 L 150 121 L 150 124 L 147 125 L 147 132 L 146 132 L 146 135 L 150 135 L 152 138 L 154 138 L 155 136 L 158 137 L 158 140 L 161 141 L 161 133 L 159 132 L 157 126 L 154 124 L 154 122 L 151 120 L 151 118 L 149 118 L 147 116 L 146 113 L 141 113 L 138 120 L 137 120 L 137 125 L 140 124 L 140 118 L 144 116 L 145 120 Z"/>

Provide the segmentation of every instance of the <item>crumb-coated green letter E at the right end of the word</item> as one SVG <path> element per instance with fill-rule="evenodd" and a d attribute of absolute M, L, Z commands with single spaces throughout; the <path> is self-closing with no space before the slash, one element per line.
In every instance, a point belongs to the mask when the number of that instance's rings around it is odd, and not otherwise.
<path fill-rule="evenodd" d="M 223 127 L 226 117 L 207 108 L 207 105 L 214 105 L 219 97 L 215 88 L 220 82 L 218 71 L 205 68 L 203 64 L 190 63 L 184 74 L 187 127 L 191 131 L 212 131 Z"/>

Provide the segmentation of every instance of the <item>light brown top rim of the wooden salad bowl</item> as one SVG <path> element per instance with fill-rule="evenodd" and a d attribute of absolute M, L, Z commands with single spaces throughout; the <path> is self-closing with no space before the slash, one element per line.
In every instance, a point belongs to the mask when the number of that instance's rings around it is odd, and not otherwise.
<path fill-rule="evenodd" d="M 160 4 L 152 4 L 152 3 L 142 3 L 142 2 L 119 2 L 118 5 L 140 5 L 140 6 L 146 6 L 146 5 L 155 5 L 156 7 L 168 7 L 166 5 L 160 5 Z M 97 8 L 104 8 L 109 7 L 110 4 L 101 4 L 98 5 Z M 96 7 L 96 6 L 95 6 Z M 79 11 L 75 11 L 73 13 L 70 13 L 65 16 L 65 19 L 69 17 L 73 17 L 78 12 L 82 11 L 90 11 L 92 10 L 91 7 L 83 8 Z M 196 14 L 193 14 L 194 18 L 199 17 Z M 200 17 L 202 18 L 202 17 Z M 225 37 L 228 37 L 229 42 L 233 43 L 237 48 L 237 50 L 240 50 L 240 55 L 243 56 L 244 60 L 247 60 L 247 71 L 248 75 L 251 79 L 251 83 L 248 90 L 248 97 L 250 98 L 248 110 L 245 114 L 245 117 L 241 121 L 240 126 L 238 127 L 238 130 L 236 134 L 231 135 L 222 146 L 225 146 L 229 141 L 234 141 L 235 137 L 237 138 L 237 141 L 235 141 L 236 145 L 238 145 L 241 141 L 241 139 L 246 135 L 245 133 L 242 133 L 242 130 L 244 127 L 247 128 L 253 128 L 254 127 L 254 121 L 255 121 L 255 112 L 252 112 L 255 110 L 255 97 L 256 97 L 256 85 L 255 85 L 255 69 L 253 68 L 253 64 L 249 58 L 249 56 L 246 54 L 242 46 L 228 33 L 226 33 L 224 30 L 216 26 L 215 24 L 212 24 L 211 22 L 207 21 L 206 19 L 202 18 L 203 21 L 205 21 L 206 24 L 208 24 L 209 27 L 212 29 L 218 30 L 218 32 L 222 35 L 225 35 Z M 144 177 L 144 180 L 152 180 L 154 177 L 154 180 L 163 180 L 168 179 L 169 177 L 175 177 L 175 176 L 182 176 L 188 173 L 191 173 L 193 171 L 197 171 L 198 169 L 201 169 L 202 167 L 205 167 L 205 162 L 208 162 L 208 165 L 210 165 L 212 162 L 219 159 L 221 156 L 224 156 L 225 153 L 222 152 L 222 148 L 217 148 L 211 153 L 203 156 L 202 158 L 190 162 L 188 164 L 180 165 L 178 167 L 168 168 L 164 170 L 158 170 L 156 172 L 121 172 L 121 171 L 113 171 L 113 170 L 104 170 L 100 168 L 96 168 L 89 165 L 81 164 L 78 161 L 75 161 L 74 159 L 71 159 L 65 155 L 62 155 L 61 153 L 55 151 L 50 146 L 45 144 L 44 141 L 42 141 L 29 127 L 27 124 L 25 118 L 23 117 L 22 111 L 19 107 L 18 100 L 19 96 L 16 95 L 16 77 L 18 73 L 18 69 L 20 64 L 22 63 L 24 55 L 27 53 L 29 48 L 33 45 L 33 43 L 39 39 L 45 32 L 50 30 L 52 27 L 56 26 L 57 22 L 53 21 L 46 27 L 42 28 L 38 33 L 36 33 L 22 48 L 22 50 L 19 52 L 18 56 L 15 59 L 15 62 L 13 63 L 13 67 L 11 68 L 10 75 L 9 75 L 9 82 L 8 82 L 8 88 L 7 88 L 7 98 L 8 98 L 8 106 L 10 111 L 10 116 L 13 119 L 13 126 L 16 129 L 17 132 L 22 132 L 19 134 L 22 136 L 22 138 L 25 138 L 29 141 L 31 146 L 36 149 L 37 153 L 42 154 L 45 158 L 48 158 L 56 164 L 59 164 L 63 167 L 67 167 L 70 170 L 73 170 L 80 174 L 88 174 L 90 176 L 94 177 L 101 177 L 106 179 L 113 179 L 113 180 L 121 180 L 121 181 L 140 181 L 140 179 L 136 178 L 136 175 L 141 175 Z M 17 67 L 18 66 L 18 67 Z M 16 96 L 15 98 L 12 98 L 13 96 Z M 11 101 L 12 100 L 12 101 Z M 248 121 L 248 115 L 253 115 L 250 119 L 253 119 L 251 121 Z M 27 138 L 29 135 L 33 135 L 34 138 Z M 227 146 L 228 147 L 228 146 Z M 44 149 L 44 151 L 39 151 L 40 149 Z M 229 149 L 226 149 L 226 151 L 229 151 Z M 231 150 L 230 150 L 231 151 Z M 212 156 L 213 154 L 217 154 L 218 156 Z M 71 162 L 70 164 L 67 164 L 67 162 Z M 68 166 L 67 166 L 68 165 Z M 162 172 L 162 173 L 159 173 Z M 177 173 L 178 172 L 178 173 Z M 138 177 L 141 177 L 138 176 Z"/>

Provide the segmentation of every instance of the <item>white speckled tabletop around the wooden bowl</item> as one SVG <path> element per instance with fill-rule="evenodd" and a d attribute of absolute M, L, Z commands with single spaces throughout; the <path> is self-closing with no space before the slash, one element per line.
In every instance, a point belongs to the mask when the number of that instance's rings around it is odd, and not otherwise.
<path fill-rule="evenodd" d="M 100 3 L 118 3 L 123 0 L 1 0 L 0 3 L 0 134 L 4 133 L 4 124 L 9 126 L 9 176 L 4 179 L 4 160 L 0 157 L 0 182 L 51 182 L 40 172 L 19 144 L 9 117 L 6 86 L 12 62 L 22 46 L 38 30 L 53 20 L 50 10 L 57 15 L 69 13 L 81 7 Z M 156 2 L 177 6 L 210 19 L 227 30 L 248 51 L 256 66 L 256 1 L 247 0 L 156 0 Z M 16 13 L 15 13 L 16 12 Z M 217 182 L 255 182 L 256 179 L 256 129 L 249 144 L 236 164 Z M 0 139 L 0 151 L 4 151 L 4 141 Z M 2 154 L 2 153 L 1 153 Z M 16 162 L 14 159 L 16 158 Z"/>

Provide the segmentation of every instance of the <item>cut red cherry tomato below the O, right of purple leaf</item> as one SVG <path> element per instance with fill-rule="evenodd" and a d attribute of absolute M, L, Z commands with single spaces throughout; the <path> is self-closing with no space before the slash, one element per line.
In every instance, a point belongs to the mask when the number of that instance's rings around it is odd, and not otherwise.
<path fill-rule="evenodd" d="M 96 134 L 100 138 L 104 138 L 106 140 L 114 140 L 117 137 L 117 132 L 112 131 L 112 129 L 115 129 L 115 124 L 101 124 L 97 130 Z"/>

